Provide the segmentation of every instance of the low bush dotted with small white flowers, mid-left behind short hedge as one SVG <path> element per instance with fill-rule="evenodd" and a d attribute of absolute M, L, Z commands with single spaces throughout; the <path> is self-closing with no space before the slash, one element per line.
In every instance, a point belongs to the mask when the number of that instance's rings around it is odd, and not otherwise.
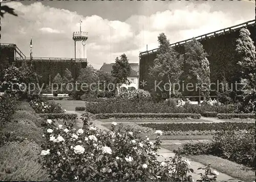
<path fill-rule="evenodd" d="M 63 113 L 63 109 L 59 103 L 53 101 L 40 102 L 30 101 L 31 107 L 36 113 Z"/>

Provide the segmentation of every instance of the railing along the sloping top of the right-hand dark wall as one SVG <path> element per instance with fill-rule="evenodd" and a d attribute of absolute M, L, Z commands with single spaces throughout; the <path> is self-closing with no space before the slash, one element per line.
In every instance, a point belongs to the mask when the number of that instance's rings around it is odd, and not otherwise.
<path fill-rule="evenodd" d="M 197 40 L 200 40 L 202 38 L 206 38 L 206 37 L 209 37 L 209 36 L 212 36 L 212 35 L 216 35 L 216 34 L 220 34 L 220 33 L 223 33 L 223 32 L 225 33 L 225 32 L 231 31 L 231 30 L 236 30 L 236 29 L 239 29 L 241 27 L 252 25 L 252 24 L 255 24 L 255 19 L 243 22 L 242 24 L 239 24 L 239 25 L 235 25 L 235 26 L 228 27 L 228 28 L 225 28 L 225 29 L 221 29 L 221 30 L 217 30 L 217 31 L 210 32 L 210 33 L 207 33 L 207 34 L 203 34 L 203 35 L 200 35 L 200 36 L 197 36 L 197 37 L 194 37 L 194 38 L 197 39 Z M 181 44 L 184 44 L 184 43 L 186 43 L 187 41 L 190 41 L 190 40 L 193 40 L 193 38 L 182 40 L 182 41 L 179 41 L 179 42 L 176 42 L 176 43 L 171 43 L 170 46 L 173 47 L 173 46 L 176 46 L 176 45 L 181 45 Z M 150 51 L 141 52 L 140 56 L 148 54 L 148 53 L 154 53 L 157 50 L 158 50 L 158 48 L 152 49 Z"/>

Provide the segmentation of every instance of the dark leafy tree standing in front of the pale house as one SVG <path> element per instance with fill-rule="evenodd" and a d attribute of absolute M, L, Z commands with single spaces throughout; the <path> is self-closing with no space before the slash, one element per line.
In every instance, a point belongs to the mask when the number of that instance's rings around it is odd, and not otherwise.
<path fill-rule="evenodd" d="M 131 65 L 129 63 L 129 59 L 127 59 L 125 54 L 122 54 L 120 56 L 120 59 L 118 57 L 116 58 L 116 62 L 113 65 L 113 70 L 111 72 L 112 76 L 114 77 L 114 83 L 129 84 L 129 80 L 127 79 L 127 77 L 129 76 L 130 73 Z M 119 85 L 117 87 L 119 87 Z"/>

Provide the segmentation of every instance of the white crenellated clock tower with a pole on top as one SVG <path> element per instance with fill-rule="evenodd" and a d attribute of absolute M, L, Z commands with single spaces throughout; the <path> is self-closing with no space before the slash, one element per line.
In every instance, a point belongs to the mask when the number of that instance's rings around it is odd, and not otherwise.
<path fill-rule="evenodd" d="M 81 31 L 81 22 L 80 20 L 80 32 L 73 32 L 75 59 L 87 59 L 86 41 L 88 39 L 88 32 Z"/>

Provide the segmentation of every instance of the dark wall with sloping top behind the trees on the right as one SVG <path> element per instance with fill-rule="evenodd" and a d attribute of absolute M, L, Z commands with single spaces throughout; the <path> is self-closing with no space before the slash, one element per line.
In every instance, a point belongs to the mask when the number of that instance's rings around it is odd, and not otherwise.
<path fill-rule="evenodd" d="M 255 44 L 255 24 L 248 25 L 246 27 L 250 33 L 251 38 Z M 229 83 L 234 83 L 239 80 L 238 65 L 237 62 L 240 61 L 237 55 L 236 49 L 236 39 L 239 37 L 239 31 L 231 30 L 225 33 L 216 34 L 215 36 L 200 39 L 199 42 L 202 43 L 204 50 L 208 53 L 208 60 L 210 63 L 210 80 L 212 83 L 217 83 L 217 80 L 223 79 L 223 76 L 227 79 Z M 184 54 L 184 44 L 177 45 L 175 47 L 176 51 L 180 54 Z M 148 69 L 153 65 L 154 59 L 156 58 L 156 52 L 148 53 L 140 56 L 140 81 L 147 81 L 147 85 L 144 87 L 139 85 L 141 89 L 150 91 L 154 89 L 154 78 L 148 75 Z M 186 68 L 183 68 L 186 70 Z M 181 81 L 186 80 L 181 78 Z M 163 81 L 164 82 L 164 81 Z M 194 81 L 192 81 L 194 82 Z M 165 82 L 166 83 L 166 82 Z M 213 88 L 213 87 L 212 87 Z M 183 92 L 184 96 L 197 96 L 197 92 Z M 214 94 L 214 93 L 212 93 Z"/>

